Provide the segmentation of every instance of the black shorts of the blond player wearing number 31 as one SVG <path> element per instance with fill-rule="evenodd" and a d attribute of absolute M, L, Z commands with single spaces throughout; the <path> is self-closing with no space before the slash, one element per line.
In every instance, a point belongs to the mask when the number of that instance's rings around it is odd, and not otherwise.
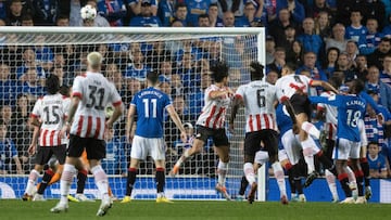
<path fill-rule="evenodd" d="M 68 145 L 70 157 L 80 157 L 86 148 L 87 159 L 102 159 L 105 157 L 105 142 L 92 138 L 80 138 L 71 134 Z"/>

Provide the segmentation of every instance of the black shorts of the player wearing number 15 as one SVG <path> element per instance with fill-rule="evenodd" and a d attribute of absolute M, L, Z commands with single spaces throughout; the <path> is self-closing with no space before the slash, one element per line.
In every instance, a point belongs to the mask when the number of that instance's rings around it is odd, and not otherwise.
<path fill-rule="evenodd" d="M 65 163 L 66 157 L 66 145 L 62 144 L 59 146 L 39 146 L 38 153 L 36 156 L 37 165 L 46 165 L 49 159 L 53 156 L 59 160 L 60 165 Z"/>

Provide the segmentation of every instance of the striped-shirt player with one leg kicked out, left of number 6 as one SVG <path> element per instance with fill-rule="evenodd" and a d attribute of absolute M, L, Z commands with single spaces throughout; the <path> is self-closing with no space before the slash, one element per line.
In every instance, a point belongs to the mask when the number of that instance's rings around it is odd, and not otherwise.
<path fill-rule="evenodd" d="M 175 164 L 172 176 L 178 173 L 180 165 L 194 154 L 201 153 L 209 137 L 213 138 L 216 152 L 219 157 L 217 173 L 218 183 L 216 190 L 223 194 L 226 199 L 230 199 L 225 187 L 226 173 L 229 161 L 229 142 L 225 131 L 225 117 L 229 107 L 232 91 L 228 85 L 228 66 L 225 63 L 218 63 L 211 67 L 214 78 L 214 85 L 205 90 L 205 105 L 198 118 L 195 125 L 198 131 L 191 148 L 186 150 L 178 161 Z"/>

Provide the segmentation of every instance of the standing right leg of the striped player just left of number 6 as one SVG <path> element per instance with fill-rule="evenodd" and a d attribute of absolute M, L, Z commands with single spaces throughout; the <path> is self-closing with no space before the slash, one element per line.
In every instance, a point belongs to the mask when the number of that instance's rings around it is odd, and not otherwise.
<path fill-rule="evenodd" d="M 229 146 L 216 146 L 216 154 L 218 155 L 218 165 L 217 165 L 217 184 L 216 191 L 222 193 L 222 195 L 230 200 L 231 197 L 227 192 L 225 186 L 226 174 L 228 173 L 228 163 L 229 163 Z M 252 165 L 251 165 L 252 166 Z"/>

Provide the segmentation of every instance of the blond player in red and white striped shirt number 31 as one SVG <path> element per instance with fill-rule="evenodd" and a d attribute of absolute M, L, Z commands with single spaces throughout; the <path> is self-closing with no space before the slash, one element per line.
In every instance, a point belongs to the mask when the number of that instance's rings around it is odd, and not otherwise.
<path fill-rule="evenodd" d="M 114 85 L 109 82 L 100 73 L 102 60 L 100 53 L 89 53 L 87 55 L 87 73 L 77 76 L 73 83 L 68 118 L 62 129 L 63 133 L 71 130 L 68 156 L 60 182 L 60 203 L 51 209 L 52 212 L 67 210 L 67 195 L 73 177 L 76 173 L 75 165 L 79 161 L 84 150 L 87 151 L 90 170 L 102 195 L 102 203 L 97 216 L 104 216 L 111 207 L 108 177 L 100 165 L 100 160 L 105 157 L 104 129 L 105 127 L 111 128 L 113 122 L 118 119 L 123 113 L 123 106 L 122 99 Z M 114 106 L 114 113 L 105 121 L 104 108 L 109 104 Z M 73 122 L 72 127 L 70 127 L 71 122 Z"/>

